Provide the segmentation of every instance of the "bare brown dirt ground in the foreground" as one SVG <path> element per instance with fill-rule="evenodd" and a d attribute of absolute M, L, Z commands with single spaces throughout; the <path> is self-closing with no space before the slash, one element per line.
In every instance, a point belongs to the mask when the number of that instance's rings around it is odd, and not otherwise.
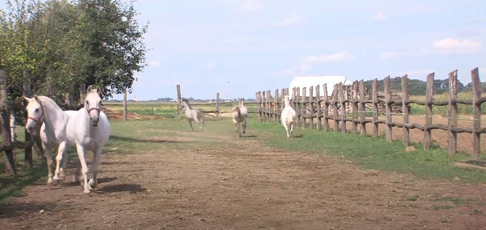
<path fill-rule="evenodd" d="M 215 134 L 213 134 L 215 135 Z M 102 158 L 99 188 L 42 182 L 0 206 L 2 229 L 484 229 L 486 186 L 362 170 L 222 137 Z M 177 137 L 164 137 L 177 142 Z M 182 148 L 183 145 L 187 148 Z M 252 151 L 258 149 L 258 151 Z M 72 171 L 70 171 L 72 174 Z M 40 214 L 40 210 L 45 213 Z"/>

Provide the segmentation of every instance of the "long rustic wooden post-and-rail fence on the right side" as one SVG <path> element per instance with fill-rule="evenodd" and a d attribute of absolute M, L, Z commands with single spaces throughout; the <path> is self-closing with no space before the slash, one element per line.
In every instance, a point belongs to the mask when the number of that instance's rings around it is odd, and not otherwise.
<path fill-rule="evenodd" d="M 320 87 L 310 86 L 293 88 L 293 98 L 291 98 L 291 106 L 296 111 L 296 126 L 302 128 L 309 128 L 317 130 L 330 130 L 329 120 L 334 121 L 334 132 L 346 133 L 346 125 L 351 124 L 351 133 L 358 133 L 358 127 L 361 127 L 360 134 L 367 135 L 367 123 L 371 123 L 373 137 L 378 137 L 378 124 L 385 124 L 386 140 L 392 140 L 392 127 L 402 128 L 403 144 L 408 146 L 410 142 L 410 129 L 418 129 L 424 132 L 424 149 L 429 149 L 432 141 L 431 131 L 433 129 L 441 129 L 448 131 L 448 154 L 453 155 L 457 151 L 457 133 L 471 133 L 472 146 L 471 155 L 475 159 L 480 152 L 480 135 L 486 133 L 486 128 L 481 128 L 481 104 L 486 101 L 486 98 L 481 97 L 481 82 L 479 80 L 478 68 L 471 71 L 472 94 L 473 99 L 458 99 L 457 98 L 457 70 L 449 74 L 449 100 L 437 101 L 433 98 L 433 82 L 434 73 L 427 76 L 427 90 L 426 100 L 410 100 L 408 98 L 408 77 L 402 77 L 402 98 L 392 99 L 390 96 L 390 76 L 383 81 L 385 98 L 378 98 L 378 80 L 372 81 L 372 97 L 367 100 L 365 96 L 365 87 L 363 80 L 352 83 L 351 99 L 345 98 L 342 83 L 334 85 L 334 90 L 331 92 L 332 97 L 328 96 L 327 85 L 323 84 L 323 92 L 321 95 Z M 314 89 L 316 96 L 314 96 Z M 309 96 L 306 96 L 307 92 Z M 289 96 L 289 88 L 275 90 L 273 97 L 271 90 L 256 92 L 257 101 L 257 118 L 262 122 L 280 123 L 280 113 L 283 108 L 283 96 Z M 351 104 L 351 117 L 346 116 L 346 108 Z M 378 120 L 379 104 L 385 104 L 385 120 Z M 366 105 L 371 104 L 371 111 L 366 110 Z M 409 105 L 418 104 L 425 106 L 425 125 L 409 123 Z M 457 127 L 457 105 L 465 104 L 473 107 L 473 125 L 470 128 Z M 393 105 L 401 105 L 403 107 L 402 122 L 392 121 L 392 107 Z M 448 106 L 448 124 L 434 124 L 432 123 L 432 106 Z M 330 111 L 330 112 L 329 112 Z M 331 113 L 331 114 L 329 114 Z M 367 113 L 371 113 L 371 118 L 367 117 Z M 315 123 L 316 121 L 316 123 Z"/>

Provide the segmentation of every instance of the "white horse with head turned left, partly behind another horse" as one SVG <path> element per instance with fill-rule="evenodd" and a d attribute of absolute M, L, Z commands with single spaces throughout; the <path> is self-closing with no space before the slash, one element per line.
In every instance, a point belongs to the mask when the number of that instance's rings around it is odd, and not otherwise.
<path fill-rule="evenodd" d="M 52 99 L 44 96 L 34 96 L 34 98 L 25 97 L 28 104 L 27 122 L 25 128 L 31 133 L 42 122 L 40 127 L 40 140 L 42 149 L 47 158 L 48 177 L 47 183 L 50 185 L 58 183 L 59 179 L 63 180 L 64 168 L 67 164 L 68 157 L 64 157 L 64 152 L 68 146 L 66 135 L 66 126 L 70 117 L 76 111 L 62 109 Z M 56 170 L 53 177 L 52 173 L 52 151 L 57 150 Z M 62 162 L 62 163 L 61 163 Z"/>

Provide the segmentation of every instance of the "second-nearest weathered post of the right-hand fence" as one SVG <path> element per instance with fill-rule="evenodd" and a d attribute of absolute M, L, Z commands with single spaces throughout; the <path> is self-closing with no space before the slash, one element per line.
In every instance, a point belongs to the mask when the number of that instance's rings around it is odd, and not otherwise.
<path fill-rule="evenodd" d="M 457 127 L 457 70 L 449 73 L 449 106 L 448 106 L 448 138 L 447 138 L 447 154 L 452 156 L 457 151 L 457 132 L 452 128 Z"/>

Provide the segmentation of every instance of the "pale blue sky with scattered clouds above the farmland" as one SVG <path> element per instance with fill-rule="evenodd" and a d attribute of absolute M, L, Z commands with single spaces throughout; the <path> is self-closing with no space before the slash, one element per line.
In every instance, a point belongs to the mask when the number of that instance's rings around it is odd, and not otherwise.
<path fill-rule="evenodd" d="M 129 99 L 254 98 L 295 76 L 486 75 L 486 1 L 138 0 L 149 22 Z M 484 80 L 482 80 L 484 81 Z M 115 99 L 122 99 L 116 95 Z"/>

